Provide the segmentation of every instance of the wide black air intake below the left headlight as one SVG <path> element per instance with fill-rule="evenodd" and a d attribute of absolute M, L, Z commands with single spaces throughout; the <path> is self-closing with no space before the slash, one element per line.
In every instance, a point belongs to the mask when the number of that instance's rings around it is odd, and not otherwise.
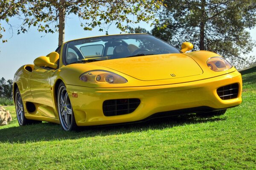
<path fill-rule="evenodd" d="M 105 116 L 117 116 L 132 113 L 140 105 L 140 99 L 113 99 L 103 102 Z"/>

